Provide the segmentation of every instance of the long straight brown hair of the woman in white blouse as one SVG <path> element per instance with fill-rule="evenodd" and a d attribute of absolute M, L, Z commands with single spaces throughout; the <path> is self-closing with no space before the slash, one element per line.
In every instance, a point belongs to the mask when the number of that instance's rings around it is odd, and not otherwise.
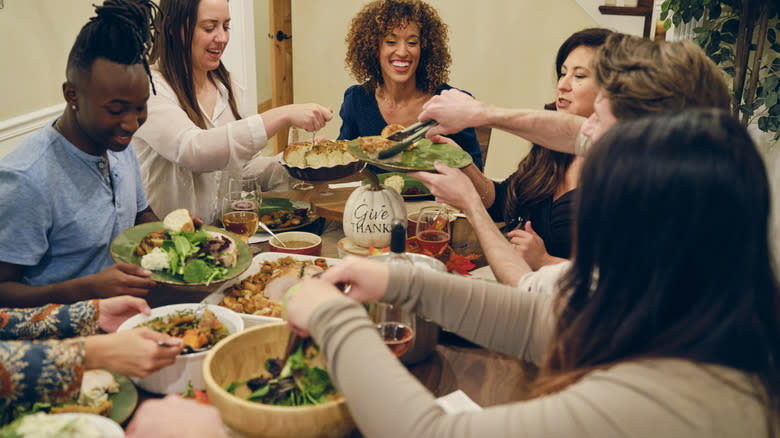
<path fill-rule="evenodd" d="M 173 88 L 190 120 L 201 129 L 206 129 L 206 117 L 198 105 L 192 77 L 192 36 L 198 24 L 199 5 L 200 0 L 160 0 L 151 62 L 157 63 L 163 78 Z M 225 86 L 230 111 L 236 120 L 241 119 L 230 84 L 230 72 L 221 60 L 216 70 L 208 72 L 208 78 Z"/>

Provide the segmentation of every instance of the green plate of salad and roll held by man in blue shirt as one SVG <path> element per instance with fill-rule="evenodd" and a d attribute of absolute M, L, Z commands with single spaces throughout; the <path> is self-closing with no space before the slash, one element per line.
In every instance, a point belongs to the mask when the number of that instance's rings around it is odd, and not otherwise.
<path fill-rule="evenodd" d="M 187 210 L 175 210 L 162 222 L 121 232 L 111 242 L 115 262 L 152 271 L 152 280 L 175 289 L 211 292 L 249 267 L 249 246 L 221 228 L 196 228 Z"/>

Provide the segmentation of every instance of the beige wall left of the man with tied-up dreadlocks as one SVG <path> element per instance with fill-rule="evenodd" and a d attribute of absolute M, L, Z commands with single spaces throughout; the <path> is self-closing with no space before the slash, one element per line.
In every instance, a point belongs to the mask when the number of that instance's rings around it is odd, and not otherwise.
<path fill-rule="evenodd" d="M 68 51 L 94 0 L 6 0 L 0 9 L 0 120 L 63 103 Z M 23 91 L 22 91 L 23 90 Z"/>

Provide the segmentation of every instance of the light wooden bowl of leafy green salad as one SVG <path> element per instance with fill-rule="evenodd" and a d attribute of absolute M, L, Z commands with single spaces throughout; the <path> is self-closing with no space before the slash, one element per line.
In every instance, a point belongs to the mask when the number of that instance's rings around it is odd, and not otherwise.
<path fill-rule="evenodd" d="M 346 436 L 355 423 L 323 354 L 307 339 L 284 361 L 289 337 L 281 322 L 246 329 L 213 348 L 203 362 L 210 403 L 241 436 Z"/>

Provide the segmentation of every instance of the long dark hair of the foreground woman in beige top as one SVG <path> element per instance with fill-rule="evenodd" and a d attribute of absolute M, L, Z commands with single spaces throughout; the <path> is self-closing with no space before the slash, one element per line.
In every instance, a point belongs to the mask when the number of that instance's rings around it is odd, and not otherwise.
<path fill-rule="evenodd" d="M 780 298 L 769 213 L 763 161 L 726 111 L 611 128 L 582 169 L 575 258 L 538 392 L 628 360 L 719 364 L 760 380 L 772 430 Z"/>

